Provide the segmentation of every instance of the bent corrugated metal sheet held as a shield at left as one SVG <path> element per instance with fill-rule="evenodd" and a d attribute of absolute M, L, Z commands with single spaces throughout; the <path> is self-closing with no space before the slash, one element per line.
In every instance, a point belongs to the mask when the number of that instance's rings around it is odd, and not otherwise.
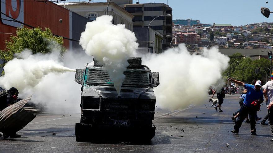
<path fill-rule="evenodd" d="M 17 132 L 23 129 L 36 116 L 23 107 L 32 96 L 8 106 L 0 112 L 0 131 L 3 133 Z"/>

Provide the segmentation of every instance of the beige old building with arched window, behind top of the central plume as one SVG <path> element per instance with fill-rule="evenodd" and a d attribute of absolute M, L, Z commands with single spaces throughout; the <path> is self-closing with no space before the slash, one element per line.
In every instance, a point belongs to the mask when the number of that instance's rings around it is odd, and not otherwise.
<path fill-rule="evenodd" d="M 69 3 L 60 3 L 58 5 L 64 6 L 71 11 L 82 15 L 91 21 L 96 20 L 97 17 L 106 14 L 106 8 L 108 3 L 88 3 L 88 2 L 69 2 Z M 132 31 L 132 19 L 134 16 L 119 5 L 114 2 L 110 2 L 108 8 L 108 15 L 113 16 L 113 24 L 125 24 L 125 27 Z"/>

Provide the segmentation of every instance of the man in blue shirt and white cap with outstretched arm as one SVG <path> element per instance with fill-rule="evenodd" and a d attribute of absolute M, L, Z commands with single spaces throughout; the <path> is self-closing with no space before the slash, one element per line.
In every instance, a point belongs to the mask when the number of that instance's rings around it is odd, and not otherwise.
<path fill-rule="evenodd" d="M 259 104 L 261 104 L 263 102 L 263 92 L 261 90 L 262 82 L 260 80 L 258 80 L 258 81 L 256 81 L 255 86 L 253 86 L 251 84 L 244 84 L 243 82 L 234 80 L 232 78 L 229 78 L 228 80 L 237 83 L 239 86 L 244 86 L 244 88 L 247 89 L 247 91 L 248 91 L 245 96 L 243 105 L 240 109 L 240 116 L 239 116 L 238 120 L 235 122 L 234 130 L 231 132 L 235 133 L 235 134 L 239 133 L 239 128 L 241 127 L 242 122 L 244 121 L 244 119 L 247 117 L 247 115 L 249 113 L 251 135 L 257 135 L 256 128 L 255 128 L 255 126 L 256 126 L 256 121 L 255 121 L 256 110 L 251 105 L 251 103 L 255 100 L 258 100 Z"/>

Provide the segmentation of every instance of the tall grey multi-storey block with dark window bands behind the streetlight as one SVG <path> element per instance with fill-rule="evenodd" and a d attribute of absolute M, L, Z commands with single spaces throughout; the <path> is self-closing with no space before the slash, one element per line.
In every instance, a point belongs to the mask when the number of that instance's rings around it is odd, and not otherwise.
<path fill-rule="evenodd" d="M 127 2 L 128 3 L 128 2 Z M 133 28 L 147 28 L 150 22 L 159 15 L 172 15 L 172 8 L 164 3 L 124 4 L 124 10 L 128 11 L 133 18 Z M 163 34 L 162 49 L 166 49 L 172 40 L 172 16 L 158 17 L 150 24 L 150 28 Z"/>

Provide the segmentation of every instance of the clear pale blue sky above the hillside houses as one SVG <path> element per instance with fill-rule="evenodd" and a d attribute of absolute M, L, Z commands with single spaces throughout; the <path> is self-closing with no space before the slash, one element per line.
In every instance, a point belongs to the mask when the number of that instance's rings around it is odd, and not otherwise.
<path fill-rule="evenodd" d="M 106 2 L 106 0 L 92 1 Z M 148 1 L 133 0 L 133 3 L 148 3 Z M 155 3 L 167 3 L 166 1 L 172 7 L 173 19 L 199 19 L 200 23 L 232 24 L 235 26 L 273 22 L 273 14 L 266 18 L 260 12 L 261 7 L 267 7 L 273 11 L 273 1 L 268 1 L 266 4 L 266 0 L 150 0 Z M 68 2 L 75 2 L 75 0 Z"/>

